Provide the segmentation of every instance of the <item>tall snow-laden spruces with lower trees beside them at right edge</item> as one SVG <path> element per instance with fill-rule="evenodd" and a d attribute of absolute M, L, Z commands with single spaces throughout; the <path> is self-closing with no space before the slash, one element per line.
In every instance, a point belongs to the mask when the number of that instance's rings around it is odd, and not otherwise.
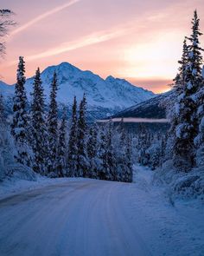
<path fill-rule="evenodd" d="M 175 76 L 175 99 L 168 102 L 170 128 L 166 135 L 142 129 L 133 139 L 137 162 L 155 169 L 171 161 L 177 171 L 204 167 L 204 69 L 200 46 L 200 19 L 194 11 L 192 34 L 185 37 Z"/>

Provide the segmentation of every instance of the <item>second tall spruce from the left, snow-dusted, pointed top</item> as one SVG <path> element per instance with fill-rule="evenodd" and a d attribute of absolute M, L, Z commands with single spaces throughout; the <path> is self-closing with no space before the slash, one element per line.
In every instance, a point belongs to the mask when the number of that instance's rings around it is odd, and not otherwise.
<path fill-rule="evenodd" d="M 48 131 L 46 127 L 45 103 L 39 68 L 35 72 L 33 87 L 33 101 L 31 104 L 32 148 L 35 155 L 33 169 L 36 173 L 46 174 Z"/>

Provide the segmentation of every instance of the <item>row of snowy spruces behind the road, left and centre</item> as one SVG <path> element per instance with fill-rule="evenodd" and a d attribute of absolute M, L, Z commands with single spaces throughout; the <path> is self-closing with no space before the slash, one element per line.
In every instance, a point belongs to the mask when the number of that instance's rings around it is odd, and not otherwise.
<path fill-rule="evenodd" d="M 11 135 L 16 145 L 16 161 L 31 167 L 35 173 L 49 177 L 86 177 L 107 181 L 132 181 L 131 141 L 124 125 L 114 128 L 86 123 L 86 95 L 78 106 L 73 99 L 72 117 L 67 122 L 64 108 L 58 119 L 57 75 L 50 85 L 48 111 L 41 72 L 35 72 L 31 107 L 25 90 L 25 62 L 19 57 Z M 1 98 L 2 99 L 2 98 Z M 3 100 L 0 108 L 3 108 Z M 1 120 L 4 120 L 1 111 Z M 4 121 L 3 121 L 4 122 Z M 119 148 L 119 150 L 118 150 Z"/>

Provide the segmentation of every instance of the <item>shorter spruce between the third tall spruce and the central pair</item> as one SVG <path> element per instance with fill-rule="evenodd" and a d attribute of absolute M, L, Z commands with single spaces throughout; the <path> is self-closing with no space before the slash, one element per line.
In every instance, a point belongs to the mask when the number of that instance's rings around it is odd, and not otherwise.
<path fill-rule="evenodd" d="M 61 127 L 59 128 L 59 140 L 57 145 L 57 176 L 63 177 L 66 176 L 66 153 L 67 153 L 67 138 L 66 138 L 66 130 L 67 130 L 67 109 L 64 108 L 63 115 L 61 118 Z"/>

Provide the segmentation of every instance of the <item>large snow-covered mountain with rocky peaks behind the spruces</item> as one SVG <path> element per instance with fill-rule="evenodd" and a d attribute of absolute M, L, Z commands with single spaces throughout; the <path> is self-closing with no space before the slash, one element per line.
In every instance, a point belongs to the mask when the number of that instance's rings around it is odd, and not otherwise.
<path fill-rule="evenodd" d="M 80 101 L 83 94 L 86 93 L 87 110 L 92 120 L 115 114 L 119 110 L 155 96 L 151 91 L 138 88 L 124 79 L 108 76 L 104 80 L 91 71 L 83 71 L 68 62 L 62 62 L 60 65 L 48 67 L 41 73 L 46 100 L 48 100 L 54 70 L 58 76 L 58 102 L 60 105 L 65 104 L 70 107 L 74 95 Z M 31 77 L 26 82 L 29 100 L 31 100 L 33 81 L 34 78 Z M 0 83 L 0 90 L 5 97 L 14 93 L 14 87 L 3 82 Z"/>

